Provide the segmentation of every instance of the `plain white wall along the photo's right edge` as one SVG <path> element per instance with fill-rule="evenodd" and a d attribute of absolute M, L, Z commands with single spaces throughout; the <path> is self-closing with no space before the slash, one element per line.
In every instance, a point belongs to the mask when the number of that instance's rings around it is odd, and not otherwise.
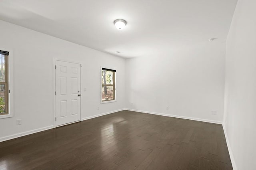
<path fill-rule="evenodd" d="M 224 129 L 238 170 L 256 167 L 255 9 L 255 0 L 238 0 L 226 42 Z"/>

